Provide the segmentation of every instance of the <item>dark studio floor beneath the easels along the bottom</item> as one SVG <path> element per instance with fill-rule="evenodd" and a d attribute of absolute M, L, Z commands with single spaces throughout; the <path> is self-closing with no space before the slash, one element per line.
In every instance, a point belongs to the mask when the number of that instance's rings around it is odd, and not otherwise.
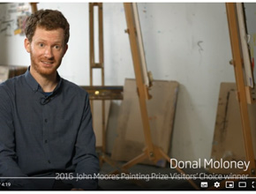
<path fill-rule="evenodd" d="M 123 163 L 120 163 L 123 164 Z M 117 169 L 117 168 L 116 168 Z M 192 186 L 184 178 L 180 177 L 176 169 L 171 169 L 169 167 L 166 168 L 159 168 L 151 165 L 144 165 L 144 164 L 137 164 L 129 169 L 128 174 L 126 177 L 134 177 L 134 175 L 140 175 L 139 178 L 134 181 L 134 179 L 123 178 L 121 174 L 114 176 L 114 178 L 110 178 L 109 173 L 115 170 L 112 168 L 108 163 L 104 163 L 102 165 L 100 175 L 102 175 L 102 179 L 99 180 L 100 190 L 216 190 L 214 187 L 216 180 L 202 180 L 196 179 L 193 181 L 198 186 L 198 189 Z M 184 169 L 185 175 L 209 175 L 205 169 Z M 105 176 L 104 176 L 105 175 Z M 147 175 L 147 176 L 146 176 Z M 169 178 L 163 180 L 159 178 L 152 178 L 152 175 L 167 175 Z M 172 178 L 177 175 L 177 178 Z M 124 176 L 124 174 L 123 174 Z M 109 177 L 109 179 L 107 178 Z M 119 179 L 117 179 L 119 177 Z M 147 179 L 147 177 L 151 177 Z M 255 180 L 254 180 L 255 181 Z M 207 187 L 202 187 L 201 183 L 207 182 Z M 239 187 L 239 182 L 234 181 L 234 188 L 227 188 L 225 183 L 220 182 L 220 187 L 217 190 L 256 190 L 252 187 L 253 180 L 243 180 L 245 182 L 246 187 Z M 256 186 L 256 185 L 255 185 Z"/>

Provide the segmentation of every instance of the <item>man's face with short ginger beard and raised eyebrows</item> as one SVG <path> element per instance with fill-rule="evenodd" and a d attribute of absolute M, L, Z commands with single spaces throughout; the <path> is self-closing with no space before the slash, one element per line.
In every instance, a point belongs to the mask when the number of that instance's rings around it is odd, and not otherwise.
<path fill-rule="evenodd" d="M 25 40 L 25 48 L 30 53 L 31 71 L 42 77 L 55 75 L 67 50 L 64 44 L 64 29 L 46 30 L 36 27 L 32 41 Z"/>

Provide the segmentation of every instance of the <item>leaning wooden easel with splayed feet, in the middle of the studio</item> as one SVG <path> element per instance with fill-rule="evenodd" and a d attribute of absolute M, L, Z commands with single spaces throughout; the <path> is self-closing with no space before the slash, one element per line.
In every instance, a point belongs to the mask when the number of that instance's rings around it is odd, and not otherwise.
<path fill-rule="evenodd" d="M 152 160 L 154 163 L 157 163 L 158 160 L 165 159 L 170 162 L 170 158 L 166 153 L 163 153 L 162 149 L 158 146 L 155 146 L 152 141 L 151 131 L 150 131 L 150 124 L 147 115 L 147 100 L 151 98 L 148 93 L 148 90 L 151 86 L 151 76 L 150 73 L 147 74 L 145 65 L 145 56 L 144 56 L 144 49 L 142 43 L 142 37 L 140 33 L 140 26 L 139 26 L 139 14 L 137 10 L 136 3 L 124 3 L 124 11 L 125 17 L 127 22 L 127 30 L 125 31 L 129 34 L 130 45 L 132 50 L 132 61 L 133 61 L 133 68 L 135 72 L 136 78 L 136 85 L 137 91 L 139 96 L 139 108 L 140 108 L 140 115 L 143 124 L 143 132 L 145 137 L 145 144 L 146 147 L 144 148 L 143 152 L 139 154 L 139 156 L 135 157 L 134 159 L 125 163 L 121 170 L 127 171 L 128 168 L 132 168 L 132 166 L 138 164 L 139 162 L 149 159 Z M 174 165 L 174 164 L 172 164 Z M 184 171 L 180 168 L 176 168 L 179 173 L 184 174 Z M 116 170 L 113 174 L 117 174 L 120 170 Z M 188 180 L 192 186 L 199 190 L 198 186 L 192 181 Z"/>

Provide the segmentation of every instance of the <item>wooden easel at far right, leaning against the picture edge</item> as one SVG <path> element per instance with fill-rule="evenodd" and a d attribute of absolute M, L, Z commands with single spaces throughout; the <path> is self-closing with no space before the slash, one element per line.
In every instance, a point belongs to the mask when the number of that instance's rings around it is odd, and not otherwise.
<path fill-rule="evenodd" d="M 236 3 L 226 3 L 227 9 L 227 17 L 229 23 L 229 30 L 230 30 L 230 43 L 232 49 L 232 61 L 231 63 L 234 66 L 236 83 L 237 83 L 237 100 L 239 103 L 240 108 L 240 115 L 242 121 L 242 129 L 243 135 L 245 140 L 245 158 L 247 161 L 250 161 L 250 165 L 247 171 L 242 171 L 240 175 L 250 175 L 255 177 L 255 156 L 253 153 L 253 145 L 252 145 L 252 132 L 248 114 L 247 104 L 250 101 L 247 101 L 248 94 L 248 87 L 245 86 L 245 71 L 244 71 L 244 59 L 242 56 L 242 47 L 241 47 L 241 39 L 239 34 L 239 26 L 237 23 L 237 6 Z M 249 91 L 250 92 L 250 91 Z M 251 101 L 252 103 L 252 101 Z M 221 189 L 224 187 L 224 183 L 227 180 L 222 181 Z M 229 180 L 230 181 L 230 180 Z M 234 180 L 237 181 L 237 180 Z M 214 187 L 210 188 L 210 190 L 215 190 Z"/>

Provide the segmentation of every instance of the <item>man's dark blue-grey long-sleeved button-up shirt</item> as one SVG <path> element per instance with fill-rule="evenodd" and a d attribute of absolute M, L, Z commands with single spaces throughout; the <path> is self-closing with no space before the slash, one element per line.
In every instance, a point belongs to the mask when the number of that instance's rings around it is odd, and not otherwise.
<path fill-rule="evenodd" d="M 0 85 L 0 178 L 10 189 L 50 190 L 59 173 L 74 188 L 96 189 L 94 179 L 71 180 L 99 171 L 89 96 L 58 79 L 49 96 L 29 69 Z M 35 176 L 53 178 L 29 178 Z"/>

